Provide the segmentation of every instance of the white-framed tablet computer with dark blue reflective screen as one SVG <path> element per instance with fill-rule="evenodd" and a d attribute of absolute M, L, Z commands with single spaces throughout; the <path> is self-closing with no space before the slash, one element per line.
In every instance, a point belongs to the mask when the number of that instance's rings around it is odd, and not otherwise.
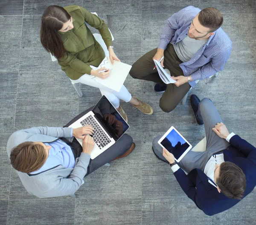
<path fill-rule="evenodd" d="M 161 147 L 172 153 L 177 162 L 188 153 L 192 145 L 174 128 L 171 127 L 158 141 Z"/>

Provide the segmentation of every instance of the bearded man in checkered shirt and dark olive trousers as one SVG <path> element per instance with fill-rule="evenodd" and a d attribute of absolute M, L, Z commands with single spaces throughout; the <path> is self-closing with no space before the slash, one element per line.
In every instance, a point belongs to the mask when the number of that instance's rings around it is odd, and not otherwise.
<path fill-rule="evenodd" d="M 223 17 L 215 8 L 198 9 L 188 6 L 173 14 L 166 22 L 160 35 L 157 49 L 143 55 L 130 71 L 133 78 L 153 81 L 156 92 L 164 92 L 160 108 L 169 113 L 195 87 L 204 80 L 222 71 L 227 62 L 232 41 L 221 29 Z M 153 59 L 169 69 L 176 80 L 166 85 L 154 69 Z"/>

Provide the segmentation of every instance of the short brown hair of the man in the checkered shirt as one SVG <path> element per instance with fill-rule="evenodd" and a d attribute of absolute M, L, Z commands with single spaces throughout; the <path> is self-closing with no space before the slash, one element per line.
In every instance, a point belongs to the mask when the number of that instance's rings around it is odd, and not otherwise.
<path fill-rule="evenodd" d="M 218 9 L 212 7 L 203 9 L 201 12 L 199 12 L 198 20 L 202 26 L 208 27 L 210 29 L 208 33 L 219 29 L 223 23 L 221 12 L 218 11 Z"/>

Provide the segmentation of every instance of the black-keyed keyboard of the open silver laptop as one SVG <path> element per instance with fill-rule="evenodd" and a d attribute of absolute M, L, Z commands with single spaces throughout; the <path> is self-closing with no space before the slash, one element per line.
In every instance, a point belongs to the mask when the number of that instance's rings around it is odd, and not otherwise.
<path fill-rule="evenodd" d="M 107 144 L 111 142 L 110 138 L 105 134 L 105 131 L 99 126 L 95 118 L 89 115 L 83 121 L 80 122 L 82 126 L 91 125 L 94 128 L 93 141 L 99 149 L 104 148 Z"/>

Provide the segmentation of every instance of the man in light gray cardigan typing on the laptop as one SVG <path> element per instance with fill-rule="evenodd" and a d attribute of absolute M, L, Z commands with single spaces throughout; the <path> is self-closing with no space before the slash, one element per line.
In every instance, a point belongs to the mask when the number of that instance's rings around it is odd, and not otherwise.
<path fill-rule="evenodd" d="M 26 190 L 39 198 L 73 195 L 84 176 L 112 160 L 128 156 L 135 147 L 124 134 L 95 159 L 93 127 L 32 127 L 13 133 L 7 143 L 11 164 Z M 83 139 L 83 146 L 76 138 Z"/>

